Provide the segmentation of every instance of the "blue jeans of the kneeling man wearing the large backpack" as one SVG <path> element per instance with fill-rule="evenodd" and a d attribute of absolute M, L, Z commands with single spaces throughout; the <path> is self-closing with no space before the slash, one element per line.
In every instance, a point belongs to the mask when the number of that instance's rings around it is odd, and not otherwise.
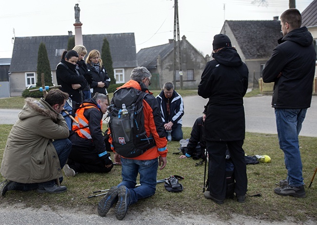
<path fill-rule="evenodd" d="M 158 159 L 135 160 L 121 158 L 122 182 L 118 187 L 124 185 L 130 192 L 129 205 L 135 204 L 139 199 L 148 198 L 155 194 L 158 173 Z M 137 176 L 140 174 L 140 185 L 137 185 Z"/>

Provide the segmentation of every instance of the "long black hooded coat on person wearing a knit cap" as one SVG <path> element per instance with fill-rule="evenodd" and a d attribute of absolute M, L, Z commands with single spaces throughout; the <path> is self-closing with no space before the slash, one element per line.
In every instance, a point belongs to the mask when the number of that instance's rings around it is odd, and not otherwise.
<path fill-rule="evenodd" d="M 209 98 L 204 124 L 205 139 L 243 140 L 245 118 L 243 96 L 248 88 L 248 68 L 236 49 L 225 47 L 214 53 L 198 85 L 198 95 Z"/>

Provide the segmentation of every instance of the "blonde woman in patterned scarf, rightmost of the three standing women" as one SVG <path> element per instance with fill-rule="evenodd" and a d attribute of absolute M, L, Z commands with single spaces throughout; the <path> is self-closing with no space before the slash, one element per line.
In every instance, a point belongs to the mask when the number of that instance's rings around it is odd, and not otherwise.
<path fill-rule="evenodd" d="M 107 95 L 107 88 L 110 84 L 110 78 L 104 66 L 102 66 L 102 60 L 98 50 L 92 50 L 89 52 L 86 58 L 88 71 L 93 76 L 93 82 L 90 84 L 91 88 L 94 88 L 93 95 L 96 92 Z"/>

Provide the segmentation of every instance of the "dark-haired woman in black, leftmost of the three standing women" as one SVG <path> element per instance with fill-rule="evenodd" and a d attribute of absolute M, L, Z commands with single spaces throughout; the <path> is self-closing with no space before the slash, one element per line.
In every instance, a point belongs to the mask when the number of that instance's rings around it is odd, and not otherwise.
<path fill-rule="evenodd" d="M 59 89 L 68 93 L 72 101 L 81 103 L 81 90 L 86 87 L 87 81 L 79 74 L 77 60 L 78 53 L 76 51 L 64 51 L 61 61 L 56 67 L 56 78 L 57 84 L 61 85 Z"/>

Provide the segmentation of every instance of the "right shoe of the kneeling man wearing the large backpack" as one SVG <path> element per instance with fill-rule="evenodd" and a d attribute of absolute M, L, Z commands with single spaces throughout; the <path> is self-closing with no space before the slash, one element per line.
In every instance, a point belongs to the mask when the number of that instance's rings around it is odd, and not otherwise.
<path fill-rule="evenodd" d="M 118 190 L 118 203 L 116 205 L 116 217 L 118 220 L 122 220 L 128 210 L 130 203 L 130 193 L 129 189 L 125 186 L 120 186 Z"/>

